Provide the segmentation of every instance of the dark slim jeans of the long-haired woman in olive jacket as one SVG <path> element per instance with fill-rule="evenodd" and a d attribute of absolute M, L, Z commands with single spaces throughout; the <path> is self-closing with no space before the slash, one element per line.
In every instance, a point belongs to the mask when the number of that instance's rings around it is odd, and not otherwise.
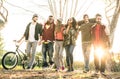
<path fill-rule="evenodd" d="M 73 65 L 73 50 L 74 50 L 74 45 L 66 45 L 65 46 L 65 51 L 66 51 L 66 62 L 67 66 Z"/>

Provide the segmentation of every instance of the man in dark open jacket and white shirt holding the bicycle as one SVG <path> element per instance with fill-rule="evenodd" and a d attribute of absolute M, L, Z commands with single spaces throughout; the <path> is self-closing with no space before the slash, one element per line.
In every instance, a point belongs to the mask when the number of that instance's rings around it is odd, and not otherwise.
<path fill-rule="evenodd" d="M 42 35 L 42 25 L 39 24 L 37 20 L 38 20 L 38 15 L 34 14 L 32 17 L 32 22 L 30 22 L 27 25 L 24 35 L 18 41 L 20 42 L 24 38 L 27 41 L 26 53 L 27 53 L 27 56 L 29 57 L 29 64 L 28 64 L 27 69 L 33 68 L 37 43 Z"/>

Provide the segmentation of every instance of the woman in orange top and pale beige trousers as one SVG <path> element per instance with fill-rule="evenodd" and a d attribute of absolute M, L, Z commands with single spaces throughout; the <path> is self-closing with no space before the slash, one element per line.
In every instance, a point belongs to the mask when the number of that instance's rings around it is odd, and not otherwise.
<path fill-rule="evenodd" d="M 57 71 L 62 69 L 64 70 L 63 66 L 63 30 L 64 26 L 62 24 L 62 19 L 57 19 L 56 26 L 55 26 L 55 55 L 54 55 L 54 63 L 57 67 Z"/>

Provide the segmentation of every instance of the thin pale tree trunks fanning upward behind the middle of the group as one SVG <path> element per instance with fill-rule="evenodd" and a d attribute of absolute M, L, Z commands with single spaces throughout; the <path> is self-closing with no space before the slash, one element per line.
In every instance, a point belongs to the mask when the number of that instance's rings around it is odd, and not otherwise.
<path fill-rule="evenodd" d="M 87 0 L 48 0 L 48 6 L 55 18 L 61 17 L 66 22 L 70 17 L 81 17 L 94 1 L 89 1 L 88 6 L 85 6 Z"/>

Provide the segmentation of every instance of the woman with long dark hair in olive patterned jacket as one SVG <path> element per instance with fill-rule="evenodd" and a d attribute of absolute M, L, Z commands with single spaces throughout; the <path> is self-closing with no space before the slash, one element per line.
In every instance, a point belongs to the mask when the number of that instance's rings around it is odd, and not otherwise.
<path fill-rule="evenodd" d="M 73 69 L 73 50 L 75 47 L 75 41 L 77 39 L 76 20 L 74 17 L 68 19 L 67 25 L 64 30 L 64 46 L 66 51 L 66 62 L 68 66 L 68 72 L 74 71 Z"/>

